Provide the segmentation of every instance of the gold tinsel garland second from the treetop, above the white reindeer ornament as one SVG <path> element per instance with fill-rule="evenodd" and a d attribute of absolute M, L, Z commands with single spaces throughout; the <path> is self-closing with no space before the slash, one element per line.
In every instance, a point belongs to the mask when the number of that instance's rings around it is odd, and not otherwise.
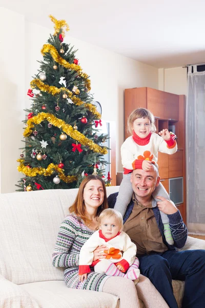
<path fill-rule="evenodd" d="M 63 59 L 59 55 L 57 49 L 53 45 L 44 44 L 41 52 L 42 52 L 43 55 L 45 55 L 46 52 L 50 53 L 55 62 L 64 66 L 67 69 L 72 69 L 72 70 L 76 71 L 80 77 L 85 79 L 85 84 L 86 84 L 86 87 L 88 88 L 88 90 L 89 91 L 91 90 L 91 83 L 90 83 L 90 80 L 88 79 L 88 75 L 86 73 L 82 72 L 82 69 L 79 65 L 76 65 L 74 63 L 70 64 L 65 59 Z"/>

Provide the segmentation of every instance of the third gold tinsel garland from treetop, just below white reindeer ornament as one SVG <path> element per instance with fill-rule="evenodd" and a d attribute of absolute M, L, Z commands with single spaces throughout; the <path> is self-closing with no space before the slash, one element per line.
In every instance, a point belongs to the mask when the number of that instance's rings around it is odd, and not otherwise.
<path fill-rule="evenodd" d="M 77 98 L 75 95 L 73 95 L 73 93 L 70 90 L 68 90 L 67 88 L 64 88 L 64 87 L 57 88 L 57 87 L 54 87 L 54 86 L 45 85 L 45 83 L 43 81 L 41 81 L 39 79 L 33 79 L 31 81 L 31 88 L 35 88 L 35 87 L 37 87 L 40 91 L 47 92 L 49 94 L 52 94 L 53 96 L 56 95 L 56 94 L 60 94 L 60 92 L 63 91 L 63 92 L 68 94 L 68 97 L 72 100 L 72 102 L 75 105 L 80 106 L 80 105 L 84 104 L 83 101 L 81 101 L 79 98 Z M 95 105 L 90 104 L 90 103 L 85 103 L 85 107 L 96 116 L 96 119 L 101 118 L 101 115 L 100 115 L 99 112 L 97 112 Z"/>

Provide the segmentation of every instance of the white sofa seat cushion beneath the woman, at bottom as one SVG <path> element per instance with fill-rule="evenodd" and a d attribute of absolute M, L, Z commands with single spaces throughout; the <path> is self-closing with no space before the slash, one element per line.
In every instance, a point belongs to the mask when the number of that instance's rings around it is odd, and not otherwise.
<path fill-rule="evenodd" d="M 68 288 L 64 281 L 43 281 L 20 285 L 44 308 L 119 308 L 112 294 Z"/>

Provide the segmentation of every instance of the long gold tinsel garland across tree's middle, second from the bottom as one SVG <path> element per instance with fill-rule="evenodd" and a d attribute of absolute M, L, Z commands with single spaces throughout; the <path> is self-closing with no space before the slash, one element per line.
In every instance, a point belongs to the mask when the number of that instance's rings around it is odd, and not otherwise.
<path fill-rule="evenodd" d="M 31 119 L 29 119 L 27 121 L 28 126 L 26 127 L 24 131 L 24 137 L 28 137 L 32 133 L 33 131 L 32 128 L 34 127 L 32 123 L 40 124 L 44 120 L 47 120 L 49 123 L 63 130 L 72 139 L 77 140 L 83 145 L 89 146 L 89 148 L 93 150 L 94 152 L 100 153 L 103 155 L 107 154 L 108 151 L 106 147 L 101 147 L 98 144 L 95 144 L 92 140 L 85 137 L 83 133 L 73 129 L 73 127 L 70 124 L 66 124 L 65 121 L 56 118 L 55 115 L 51 113 L 40 112 L 38 113 L 38 115 L 35 115 Z"/>

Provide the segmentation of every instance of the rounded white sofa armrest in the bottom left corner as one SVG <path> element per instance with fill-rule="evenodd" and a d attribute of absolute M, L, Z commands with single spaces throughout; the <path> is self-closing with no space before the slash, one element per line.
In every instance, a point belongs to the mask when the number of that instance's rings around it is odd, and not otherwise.
<path fill-rule="evenodd" d="M 0 275 L 0 307 L 40 308 L 37 302 L 19 285 Z"/>

